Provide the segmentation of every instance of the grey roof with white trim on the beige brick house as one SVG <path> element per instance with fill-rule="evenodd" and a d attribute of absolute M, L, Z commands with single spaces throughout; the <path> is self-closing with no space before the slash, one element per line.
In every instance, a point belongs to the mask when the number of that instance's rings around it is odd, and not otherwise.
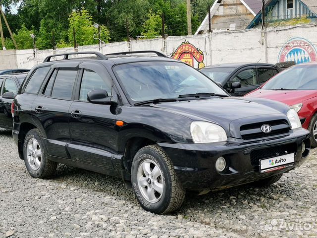
<path fill-rule="evenodd" d="M 262 1 L 258 0 L 240 0 L 243 5 L 254 15 L 256 16 L 257 13 L 261 10 L 262 8 Z M 268 0 L 265 0 L 265 2 Z M 218 10 L 219 6 L 221 3 L 218 3 L 218 1 L 214 1 L 210 8 L 211 12 L 211 18 L 213 15 L 216 13 Z M 206 15 L 205 19 L 203 20 L 202 24 L 199 26 L 197 29 L 195 35 L 197 35 L 201 30 L 203 30 L 206 26 L 208 25 L 208 14 Z"/>

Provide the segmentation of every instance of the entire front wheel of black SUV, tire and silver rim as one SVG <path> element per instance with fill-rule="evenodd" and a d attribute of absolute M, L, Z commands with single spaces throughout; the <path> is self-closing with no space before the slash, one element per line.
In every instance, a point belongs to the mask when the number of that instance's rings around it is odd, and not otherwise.
<path fill-rule="evenodd" d="M 146 211 L 169 213 L 178 209 L 184 201 L 185 190 L 174 165 L 158 145 L 145 146 L 136 153 L 131 180 L 134 194 Z"/>

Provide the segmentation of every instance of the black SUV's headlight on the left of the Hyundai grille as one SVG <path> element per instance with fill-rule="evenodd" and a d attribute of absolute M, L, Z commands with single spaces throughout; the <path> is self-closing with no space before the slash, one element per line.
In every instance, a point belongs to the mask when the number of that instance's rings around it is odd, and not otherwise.
<path fill-rule="evenodd" d="M 190 125 L 190 133 L 195 143 L 227 140 L 227 134 L 221 126 L 207 121 L 193 121 Z"/>

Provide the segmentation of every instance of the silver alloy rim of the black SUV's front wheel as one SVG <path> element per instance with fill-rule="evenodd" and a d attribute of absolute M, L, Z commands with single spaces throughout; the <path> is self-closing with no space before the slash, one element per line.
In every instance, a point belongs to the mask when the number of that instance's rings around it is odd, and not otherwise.
<path fill-rule="evenodd" d="M 164 178 L 154 161 L 145 160 L 139 165 L 137 179 L 139 190 L 148 202 L 156 203 L 161 199 L 164 192 Z"/>

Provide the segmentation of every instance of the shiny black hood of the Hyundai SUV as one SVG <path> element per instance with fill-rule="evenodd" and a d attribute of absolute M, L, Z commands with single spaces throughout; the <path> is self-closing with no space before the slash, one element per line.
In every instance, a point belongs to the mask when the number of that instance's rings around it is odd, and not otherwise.
<path fill-rule="evenodd" d="M 161 103 L 152 107 L 168 110 L 192 120 L 210 121 L 221 125 L 230 135 L 237 135 L 243 124 L 265 122 L 275 119 L 286 119 L 282 113 L 285 108 L 277 105 L 276 109 L 268 107 L 275 102 L 270 100 L 250 101 L 247 98 L 227 97 L 207 100 L 189 100 L 182 102 Z M 286 110 L 288 109 L 287 106 Z M 235 137 L 235 136 L 234 136 Z"/>

